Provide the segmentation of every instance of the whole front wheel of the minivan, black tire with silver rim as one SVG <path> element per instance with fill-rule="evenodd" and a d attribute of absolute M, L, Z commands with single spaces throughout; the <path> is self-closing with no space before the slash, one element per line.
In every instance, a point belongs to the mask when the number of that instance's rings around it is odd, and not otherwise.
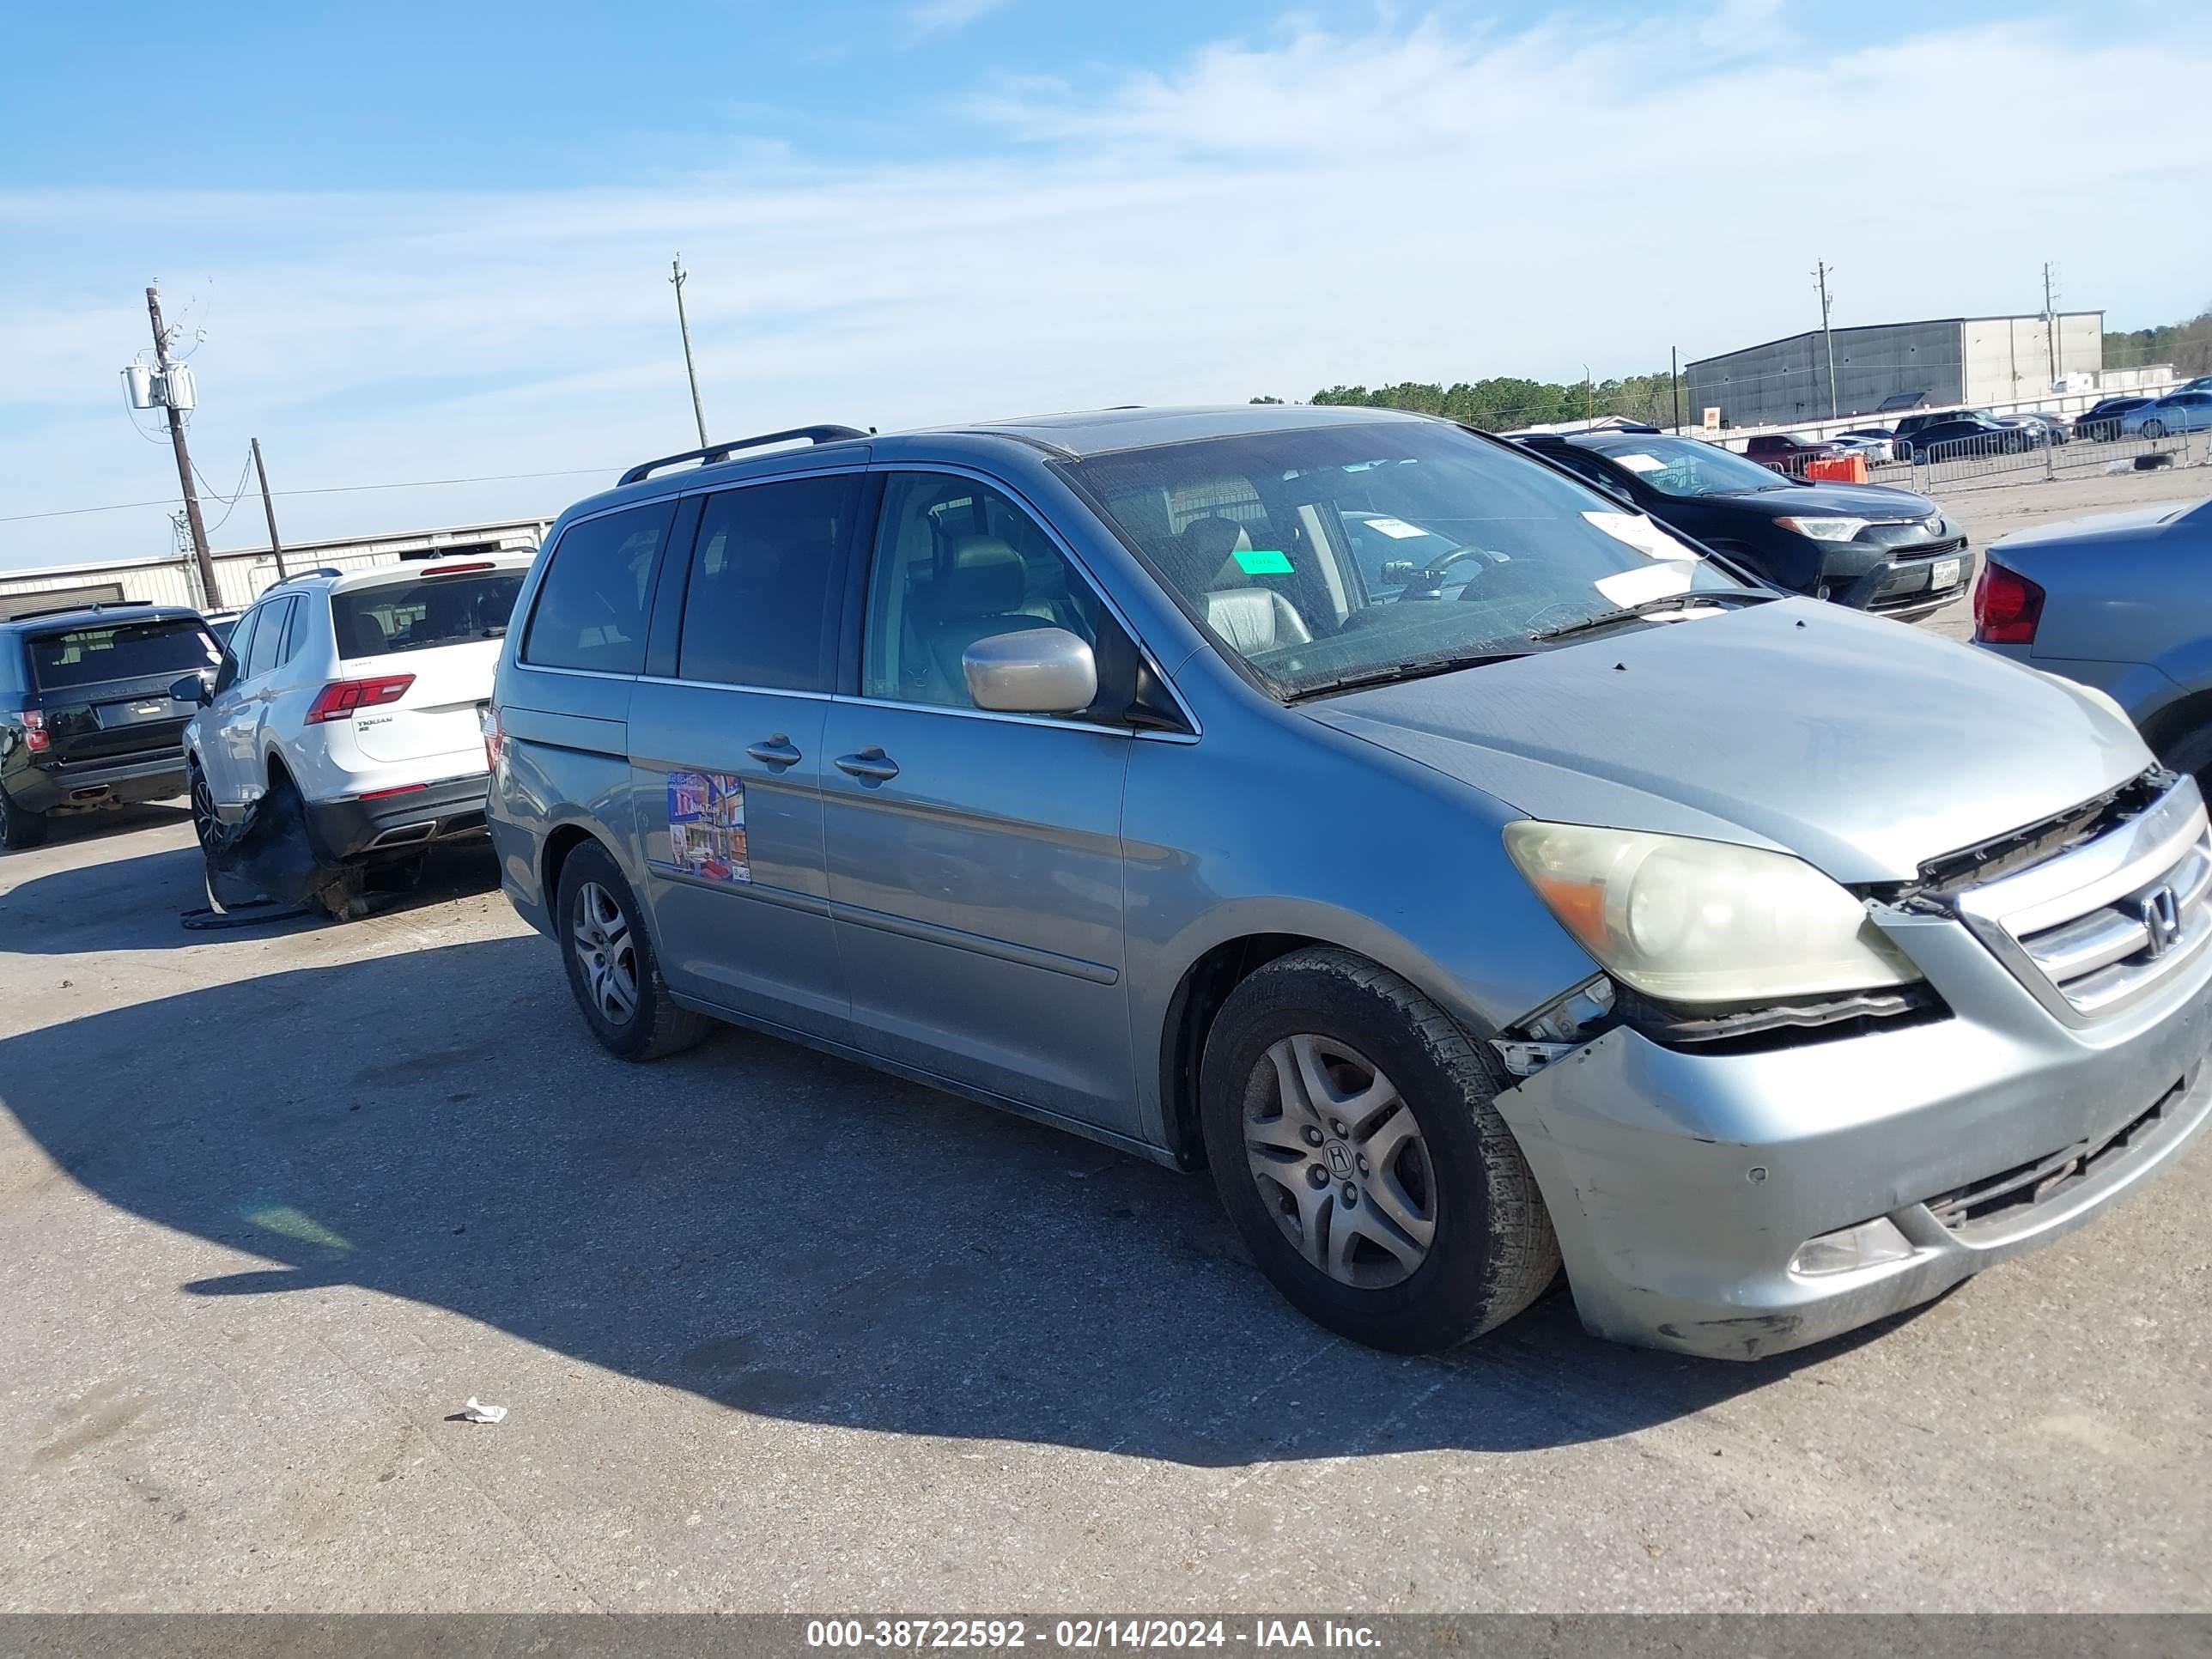
<path fill-rule="evenodd" d="M 1338 949 L 1239 984 L 1206 1040 L 1214 1188 L 1261 1272 L 1354 1343 L 1433 1354 L 1559 1272 L 1498 1062 L 1407 980 Z"/>

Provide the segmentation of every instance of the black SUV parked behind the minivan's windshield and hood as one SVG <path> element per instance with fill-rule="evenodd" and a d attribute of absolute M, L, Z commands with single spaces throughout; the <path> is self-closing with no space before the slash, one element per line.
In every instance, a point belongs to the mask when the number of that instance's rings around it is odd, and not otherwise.
<path fill-rule="evenodd" d="M 1792 593 L 1911 622 L 1973 582 L 1966 538 L 1909 489 L 1807 484 L 1699 438 L 1520 442 Z"/>

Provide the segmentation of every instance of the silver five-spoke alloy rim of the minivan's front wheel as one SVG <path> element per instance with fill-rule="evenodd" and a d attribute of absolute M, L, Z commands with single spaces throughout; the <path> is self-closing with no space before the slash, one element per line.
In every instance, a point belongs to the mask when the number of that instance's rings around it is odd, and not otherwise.
<path fill-rule="evenodd" d="M 1340 1285 L 1387 1290 L 1436 1241 L 1427 1141 L 1396 1084 L 1349 1044 L 1283 1037 L 1245 1088 L 1245 1159 L 1283 1237 Z"/>

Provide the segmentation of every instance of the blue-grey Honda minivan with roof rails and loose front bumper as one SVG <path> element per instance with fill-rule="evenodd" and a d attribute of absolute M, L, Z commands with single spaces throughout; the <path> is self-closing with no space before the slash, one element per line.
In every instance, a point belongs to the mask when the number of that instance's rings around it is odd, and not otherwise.
<path fill-rule="evenodd" d="M 1206 1166 L 1363 1343 L 1564 1270 L 1774 1354 L 2205 1124 L 2205 810 L 2106 697 L 1442 420 L 719 445 L 515 617 L 491 834 L 606 1048 L 734 1020 Z"/>

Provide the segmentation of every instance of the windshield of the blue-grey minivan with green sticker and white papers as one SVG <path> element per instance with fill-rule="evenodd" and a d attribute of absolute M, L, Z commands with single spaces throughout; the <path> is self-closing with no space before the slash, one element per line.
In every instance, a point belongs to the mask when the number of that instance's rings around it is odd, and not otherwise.
<path fill-rule="evenodd" d="M 1285 697 L 1540 650 L 1648 599 L 1754 593 L 1617 500 L 1444 425 L 1267 431 L 1068 471 Z"/>

